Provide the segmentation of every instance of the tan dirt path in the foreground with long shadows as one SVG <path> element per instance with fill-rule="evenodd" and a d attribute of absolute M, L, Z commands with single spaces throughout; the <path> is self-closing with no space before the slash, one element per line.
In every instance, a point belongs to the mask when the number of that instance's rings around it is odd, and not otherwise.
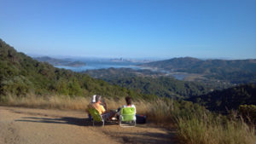
<path fill-rule="evenodd" d="M 135 128 L 117 124 L 92 127 L 85 112 L 0 107 L 0 144 L 172 144 L 173 133 L 146 124 L 137 124 Z"/>

